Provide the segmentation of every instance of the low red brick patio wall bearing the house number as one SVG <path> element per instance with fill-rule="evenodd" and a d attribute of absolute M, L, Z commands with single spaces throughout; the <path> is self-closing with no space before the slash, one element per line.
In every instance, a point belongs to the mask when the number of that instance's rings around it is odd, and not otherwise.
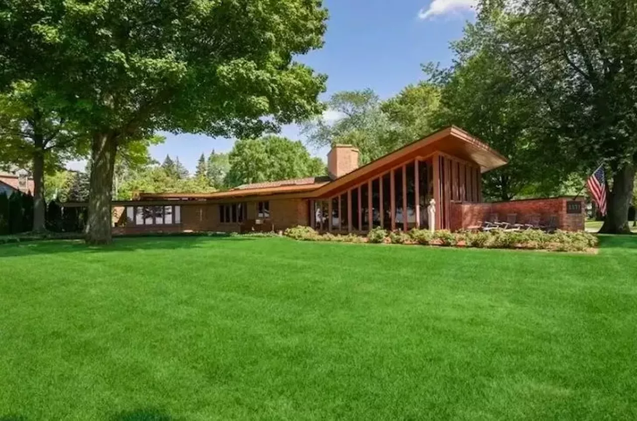
<path fill-rule="evenodd" d="M 552 216 L 557 217 L 557 228 L 565 231 L 581 231 L 584 229 L 584 203 L 581 214 L 567 214 L 566 202 L 572 198 L 555 197 L 545 199 L 512 200 L 492 204 L 452 204 L 451 229 L 460 230 L 479 226 L 489 221 L 492 214 L 497 220 L 506 221 L 509 215 L 515 214 L 516 223 L 531 223 L 533 216 L 540 217 L 540 224 L 548 225 Z"/>

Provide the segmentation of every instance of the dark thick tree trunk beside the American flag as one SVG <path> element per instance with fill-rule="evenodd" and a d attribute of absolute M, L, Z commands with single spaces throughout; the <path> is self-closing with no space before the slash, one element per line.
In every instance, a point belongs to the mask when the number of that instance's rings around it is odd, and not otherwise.
<path fill-rule="evenodd" d="M 629 234 L 628 208 L 633 198 L 633 183 L 635 167 L 633 164 L 624 165 L 615 172 L 613 189 L 606 199 L 606 219 L 599 232 L 606 234 Z"/>

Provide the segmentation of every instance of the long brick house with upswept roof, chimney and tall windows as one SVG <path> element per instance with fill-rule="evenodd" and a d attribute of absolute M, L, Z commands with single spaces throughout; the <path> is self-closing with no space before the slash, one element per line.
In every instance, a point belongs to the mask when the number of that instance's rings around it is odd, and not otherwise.
<path fill-rule="evenodd" d="M 494 219 L 583 230 L 582 202 L 573 204 L 568 198 L 483 203 L 481 174 L 507 162 L 457 127 L 444 128 L 362 167 L 356 148 L 335 145 L 327 156 L 329 176 L 206 194 L 140 193 L 136 200 L 113 202 L 113 230 L 245 232 L 308 225 L 319 231 L 364 233 L 376 226 L 410 230 L 431 224 L 459 230 Z M 432 199 L 435 220 L 429 221 Z"/>

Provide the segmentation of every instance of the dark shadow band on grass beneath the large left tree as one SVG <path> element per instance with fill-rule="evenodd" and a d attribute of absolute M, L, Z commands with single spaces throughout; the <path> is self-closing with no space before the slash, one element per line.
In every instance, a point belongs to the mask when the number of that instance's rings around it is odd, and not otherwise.
<path fill-rule="evenodd" d="M 90 246 L 82 240 L 50 240 L 0 245 L 0 259 L 15 256 L 33 256 L 36 254 L 92 254 L 110 252 L 130 252 L 138 250 L 175 250 L 196 249 L 203 244 L 218 242 L 254 241 L 257 237 L 118 237 L 113 244 Z M 1 421 L 1 420 L 0 420 Z"/>

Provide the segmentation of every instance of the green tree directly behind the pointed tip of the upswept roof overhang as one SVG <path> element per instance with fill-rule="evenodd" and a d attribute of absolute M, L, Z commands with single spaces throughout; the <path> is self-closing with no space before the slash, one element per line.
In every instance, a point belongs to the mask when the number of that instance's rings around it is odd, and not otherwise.
<path fill-rule="evenodd" d="M 557 193 L 569 167 L 559 159 L 558 139 L 538 118 L 541 101 L 526 94 L 507 62 L 480 45 L 472 25 L 454 49 L 454 66 L 433 76 L 443 86 L 439 125 L 462 127 L 509 159 L 482 176 L 484 196 L 506 201 Z"/>

